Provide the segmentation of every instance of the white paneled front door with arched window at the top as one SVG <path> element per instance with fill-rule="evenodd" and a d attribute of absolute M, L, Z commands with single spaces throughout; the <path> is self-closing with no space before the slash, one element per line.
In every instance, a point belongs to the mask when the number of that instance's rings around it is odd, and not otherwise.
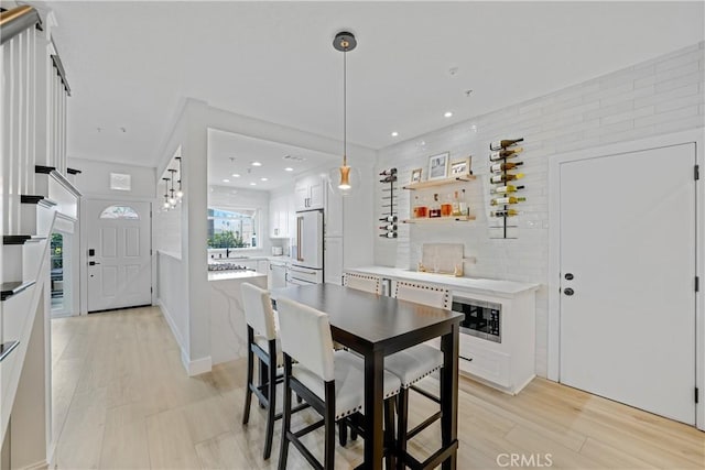
<path fill-rule="evenodd" d="M 88 311 L 152 302 L 149 203 L 87 200 Z"/>

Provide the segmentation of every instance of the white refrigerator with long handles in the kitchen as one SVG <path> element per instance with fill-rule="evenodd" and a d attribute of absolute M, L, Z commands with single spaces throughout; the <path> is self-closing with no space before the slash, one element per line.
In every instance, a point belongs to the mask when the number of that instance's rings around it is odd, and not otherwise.
<path fill-rule="evenodd" d="M 295 241 L 288 284 L 323 283 L 323 210 L 296 212 Z"/>

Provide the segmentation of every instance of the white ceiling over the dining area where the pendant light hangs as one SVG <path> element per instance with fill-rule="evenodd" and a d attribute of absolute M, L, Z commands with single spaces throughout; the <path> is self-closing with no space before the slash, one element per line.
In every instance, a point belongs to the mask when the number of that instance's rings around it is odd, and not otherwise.
<path fill-rule="evenodd" d="M 705 29 L 701 1 L 48 7 L 73 90 L 68 155 L 150 166 L 185 97 L 340 139 L 343 57 L 332 39 L 341 29 L 358 39 L 348 141 L 371 149 L 694 44 Z M 223 147 L 212 157 L 229 163 L 237 149 Z"/>

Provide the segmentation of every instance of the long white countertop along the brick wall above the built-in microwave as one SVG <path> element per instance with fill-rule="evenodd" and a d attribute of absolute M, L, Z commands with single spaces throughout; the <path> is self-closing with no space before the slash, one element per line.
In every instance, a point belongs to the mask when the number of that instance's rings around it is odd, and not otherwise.
<path fill-rule="evenodd" d="M 346 271 L 372 274 L 393 280 L 420 281 L 431 284 L 440 284 L 452 289 L 463 289 L 488 295 L 513 296 L 525 291 L 536 291 L 539 284 L 521 283 L 514 281 L 487 280 L 481 277 L 455 277 L 444 274 L 421 273 L 388 266 L 361 266 L 350 267 Z"/>

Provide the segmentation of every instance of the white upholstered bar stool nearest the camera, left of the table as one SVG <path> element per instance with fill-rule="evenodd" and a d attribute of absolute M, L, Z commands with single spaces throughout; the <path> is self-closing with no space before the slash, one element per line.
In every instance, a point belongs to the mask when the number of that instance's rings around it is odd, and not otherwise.
<path fill-rule="evenodd" d="M 284 411 L 279 469 L 286 468 L 289 442 L 292 442 L 314 468 L 333 469 L 335 464 L 335 423 L 364 409 L 365 364 L 347 351 L 333 350 L 328 316 L 323 311 L 286 298 L 278 298 L 284 354 Z M 296 361 L 296 363 L 294 363 Z M 390 434 L 393 441 L 393 402 L 400 390 L 399 379 L 384 371 L 383 395 L 387 403 Z M 291 430 L 291 392 L 308 403 L 323 419 L 310 426 Z M 391 425 L 391 426 L 390 426 Z M 323 464 L 305 448 L 302 436 L 325 426 Z M 389 459 L 389 455 L 388 455 Z M 391 460 L 388 460 L 388 464 Z"/>

